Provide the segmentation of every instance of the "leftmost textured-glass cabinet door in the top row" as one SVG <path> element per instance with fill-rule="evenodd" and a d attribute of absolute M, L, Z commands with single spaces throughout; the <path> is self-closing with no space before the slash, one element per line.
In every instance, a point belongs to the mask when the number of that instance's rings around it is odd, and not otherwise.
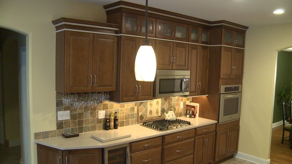
<path fill-rule="evenodd" d="M 140 16 L 123 12 L 122 14 L 122 33 L 139 35 Z"/>

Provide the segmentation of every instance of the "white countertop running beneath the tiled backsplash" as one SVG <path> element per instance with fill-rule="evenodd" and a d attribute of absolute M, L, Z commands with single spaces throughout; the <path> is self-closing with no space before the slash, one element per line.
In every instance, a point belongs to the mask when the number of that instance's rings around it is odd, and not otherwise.
<path fill-rule="evenodd" d="M 60 150 L 104 148 L 104 147 L 109 147 L 113 145 L 119 145 L 119 144 L 129 143 L 129 142 L 138 141 L 138 140 L 144 140 L 144 139 L 148 139 L 152 137 L 157 137 L 161 135 L 166 135 L 170 133 L 180 132 L 187 129 L 193 129 L 196 127 L 201 127 L 201 126 L 217 123 L 217 121 L 214 121 L 211 119 L 204 119 L 201 117 L 198 117 L 198 118 L 179 117 L 178 119 L 190 121 L 191 124 L 193 125 L 160 132 L 160 131 L 156 131 L 147 127 L 143 127 L 140 124 L 135 124 L 135 125 L 125 126 L 125 127 L 119 127 L 118 129 L 114 129 L 114 130 L 98 130 L 94 132 L 80 133 L 79 137 L 64 138 L 63 136 L 60 136 L 60 137 L 47 138 L 47 139 L 42 139 L 42 140 L 35 140 L 35 143 L 46 145 L 49 147 L 54 147 Z M 121 133 L 129 132 L 129 134 L 131 134 L 131 137 L 109 141 L 109 142 L 101 142 L 91 137 L 91 135 L 98 135 L 98 134 L 111 135 L 113 134 L 111 131 L 116 131 L 116 132 L 121 132 Z"/>

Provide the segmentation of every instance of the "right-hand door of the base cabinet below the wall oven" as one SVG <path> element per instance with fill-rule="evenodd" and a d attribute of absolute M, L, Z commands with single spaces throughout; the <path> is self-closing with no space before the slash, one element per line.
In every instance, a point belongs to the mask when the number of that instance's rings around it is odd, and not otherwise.
<path fill-rule="evenodd" d="M 229 133 L 228 156 L 236 153 L 238 150 L 239 126 L 230 128 Z"/>

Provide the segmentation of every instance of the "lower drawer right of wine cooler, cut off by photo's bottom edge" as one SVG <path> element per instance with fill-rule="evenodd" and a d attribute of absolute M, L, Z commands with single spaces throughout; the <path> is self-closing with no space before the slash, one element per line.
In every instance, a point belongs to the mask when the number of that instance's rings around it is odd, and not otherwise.
<path fill-rule="evenodd" d="M 131 154 L 131 163 L 160 164 L 161 163 L 161 146 Z"/>

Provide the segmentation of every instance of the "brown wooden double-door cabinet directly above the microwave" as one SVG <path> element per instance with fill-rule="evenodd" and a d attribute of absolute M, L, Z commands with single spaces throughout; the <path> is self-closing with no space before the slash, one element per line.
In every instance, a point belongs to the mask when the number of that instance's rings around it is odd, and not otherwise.
<path fill-rule="evenodd" d="M 157 69 L 188 69 L 188 44 L 186 43 L 156 40 L 155 55 Z"/>

